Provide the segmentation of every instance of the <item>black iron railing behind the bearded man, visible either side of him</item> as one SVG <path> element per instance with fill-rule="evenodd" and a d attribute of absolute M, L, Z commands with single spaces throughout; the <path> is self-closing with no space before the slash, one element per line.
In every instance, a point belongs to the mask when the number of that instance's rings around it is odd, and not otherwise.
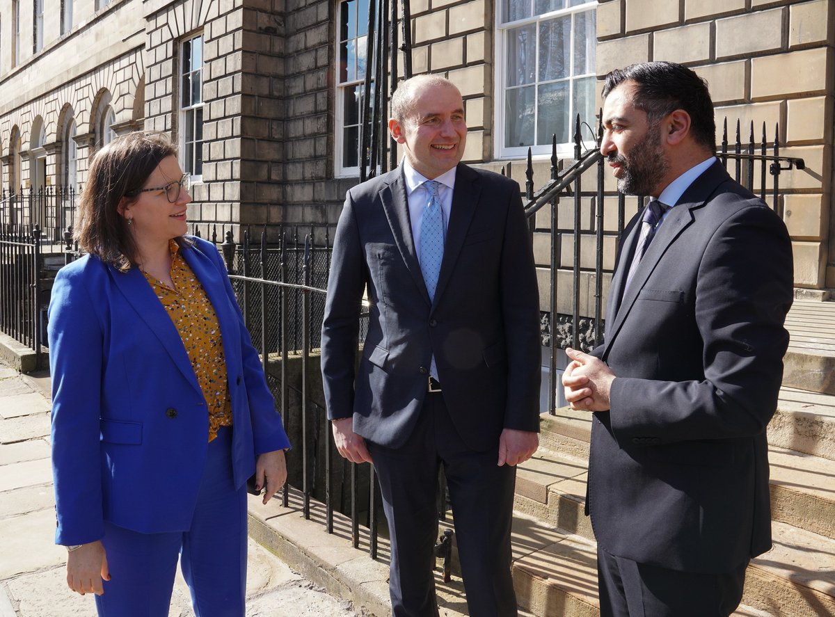
<path fill-rule="evenodd" d="M 554 414 L 558 407 L 559 353 L 567 346 L 590 351 L 603 341 L 605 324 L 604 287 L 611 280 L 612 268 L 605 267 L 607 252 L 614 256 L 616 243 L 623 233 L 626 215 L 624 195 L 605 192 L 605 157 L 600 154 L 602 128 L 598 127 L 598 144 L 584 149 L 580 138 L 580 119 L 575 122 L 574 160 L 560 168 L 557 159 L 556 136 L 552 145 L 551 179 L 534 193 L 533 163 L 529 150 L 526 169 L 525 193 L 528 203 L 525 212 L 529 216 L 532 238 L 547 235 L 550 245 L 549 263 L 549 311 L 543 316 L 543 344 L 549 347 L 548 411 Z M 766 125 L 762 124 L 762 139 L 754 140 L 754 124 L 751 122 L 747 143 L 741 142 L 740 123 L 736 123 L 736 140 L 728 142 L 725 120 L 721 148 L 716 156 L 734 179 L 752 193 L 759 195 L 777 214 L 782 215 L 780 174 L 789 169 L 804 169 L 803 159 L 780 156 L 779 126 L 774 139 L 767 143 Z M 589 190 L 589 172 L 596 166 L 594 182 Z M 757 173 L 758 170 L 758 173 Z M 771 186 L 769 187 L 769 182 Z M 607 225 L 605 200 L 616 200 L 616 223 Z M 631 197 L 635 210 L 644 205 L 643 196 Z M 587 211 L 584 212 L 584 207 Z M 548 225 L 536 223 L 537 214 L 546 211 Z M 630 212 L 630 216 L 632 214 Z M 561 221 L 570 221 L 564 225 Z M 607 246 L 608 243 L 608 246 Z M 564 251 L 569 245 L 572 249 Z M 569 254 L 570 252 L 570 254 Z M 612 263 L 611 266 L 614 264 Z M 569 281 L 569 285 L 560 284 Z M 569 291 L 565 291 L 565 288 Z M 541 290 L 540 290 L 541 293 Z M 564 296 L 569 294 L 567 300 Z M 592 299 L 593 298 L 593 299 Z M 568 309 L 569 311 L 565 310 Z"/>

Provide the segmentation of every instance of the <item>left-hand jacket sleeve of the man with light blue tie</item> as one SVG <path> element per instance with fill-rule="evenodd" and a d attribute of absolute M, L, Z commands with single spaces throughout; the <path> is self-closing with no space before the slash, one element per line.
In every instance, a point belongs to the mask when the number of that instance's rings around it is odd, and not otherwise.
<path fill-rule="evenodd" d="M 321 326 L 321 374 L 329 420 L 352 417 L 359 316 L 367 275 L 354 200 L 348 191 L 333 240 Z"/>

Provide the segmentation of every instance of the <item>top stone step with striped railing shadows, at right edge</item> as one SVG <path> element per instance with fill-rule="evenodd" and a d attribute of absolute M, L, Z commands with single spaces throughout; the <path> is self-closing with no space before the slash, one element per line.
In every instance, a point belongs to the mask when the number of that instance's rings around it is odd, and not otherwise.
<path fill-rule="evenodd" d="M 794 301 L 786 329 L 783 385 L 835 394 L 835 302 Z"/>

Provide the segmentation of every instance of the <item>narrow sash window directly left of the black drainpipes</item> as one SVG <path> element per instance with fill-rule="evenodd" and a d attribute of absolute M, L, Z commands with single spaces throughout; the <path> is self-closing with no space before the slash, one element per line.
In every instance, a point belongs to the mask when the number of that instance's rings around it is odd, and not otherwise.
<path fill-rule="evenodd" d="M 339 67 L 337 75 L 337 174 L 359 174 L 360 119 L 366 102 L 369 0 L 343 0 L 339 4 Z"/>

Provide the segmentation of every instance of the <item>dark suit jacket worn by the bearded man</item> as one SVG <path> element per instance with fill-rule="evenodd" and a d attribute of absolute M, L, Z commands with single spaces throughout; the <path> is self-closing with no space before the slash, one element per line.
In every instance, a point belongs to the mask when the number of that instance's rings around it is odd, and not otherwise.
<path fill-rule="evenodd" d="M 617 378 L 595 413 L 591 522 L 610 554 L 720 573 L 771 547 L 766 426 L 777 408 L 792 245 L 782 220 L 719 162 L 681 196 L 621 294 L 603 346 Z"/>

